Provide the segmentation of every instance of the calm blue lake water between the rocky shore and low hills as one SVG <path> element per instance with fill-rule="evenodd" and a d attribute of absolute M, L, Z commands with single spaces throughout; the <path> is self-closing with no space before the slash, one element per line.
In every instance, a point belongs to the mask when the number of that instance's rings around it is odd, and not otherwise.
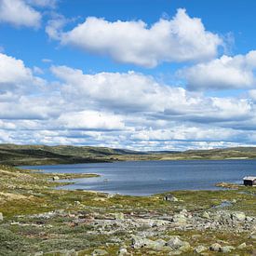
<path fill-rule="evenodd" d="M 256 176 L 256 160 L 141 161 L 22 167 L 49 173 L 97 173 L 100 178 L 76 179 L 65 189 L 121 195 L 153 195 L 172 190 L 213 190 L 217 182 L 242 182 Z"/>

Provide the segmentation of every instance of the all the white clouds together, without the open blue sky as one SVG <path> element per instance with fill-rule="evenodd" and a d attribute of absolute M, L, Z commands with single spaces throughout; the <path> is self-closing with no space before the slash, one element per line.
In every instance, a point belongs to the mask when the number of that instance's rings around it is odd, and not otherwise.
<path fill-rule="evenodd" d="M 0 142 L 137 150 L 256 142 L 256 51 L 220 56 L 221 36 L 184 9 L 152 25 L 90 17 L 63 31 L 70 20 L 52 10 L 57 2 L 13 0 L 10 5 L 0 0 L 0 22 L 38 28 L 42 9 L 51 8 L 46 32 L 62 46 L 145 68 L 179 62 L 182 68 L 176 74 L 182 81 L 174 75 L 173 82 L 162 82 L 134 71 L 87 74 L 53 65 L 54 58 L 28 67 L 0 52 Z M 236 96 L 219 93 L 230 89 Z"/>

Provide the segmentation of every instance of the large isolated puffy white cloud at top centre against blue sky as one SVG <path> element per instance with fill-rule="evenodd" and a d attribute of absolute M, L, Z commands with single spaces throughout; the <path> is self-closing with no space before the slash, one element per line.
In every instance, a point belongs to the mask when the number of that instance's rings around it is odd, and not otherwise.
<path fill-rule="evenodd" d="M 184 9 L 178 9 L 172 20 L 161 19 L 153 25 L 95 17 L 68 32 L 61 32 L 61 25 L 60 19 L 49 21 L 47 34 L 62 45 L 143 67 L 163 61 L 206 61 L 214 58 L 223 44 L 218 34 L 207 31 L 200 19 L 190 18 Z"/>

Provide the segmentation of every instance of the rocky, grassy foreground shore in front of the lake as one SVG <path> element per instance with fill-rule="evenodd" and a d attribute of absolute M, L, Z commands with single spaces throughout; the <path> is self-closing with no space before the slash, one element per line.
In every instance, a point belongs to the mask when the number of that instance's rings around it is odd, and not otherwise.
<path fill-rule="evenodd" d="M 256 255 L 256 188 L 105 195 L 55 176 L 0 167 L 0 255 Z"/>

